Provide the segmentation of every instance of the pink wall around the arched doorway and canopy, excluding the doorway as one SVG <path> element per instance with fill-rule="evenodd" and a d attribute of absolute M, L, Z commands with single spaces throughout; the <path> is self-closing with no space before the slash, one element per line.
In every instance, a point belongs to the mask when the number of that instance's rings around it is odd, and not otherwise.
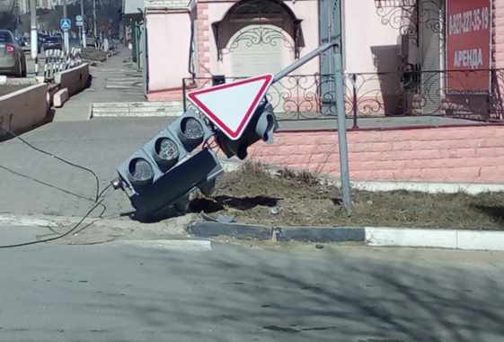
<path fill-rule="evenodd" d="M 181 3 L 184 4 L 181 4 Z M 231 57 L 217 58 L 217 44 L 211 24 L 223 19 L 235 2 L 199 1 L 195 4 L 195 40 L 197 43 L 197 76 L 233 76 Z M 316 0 L 289 1 L 287 5 L 297 18 L 303 19 L 305 47 L 300 56 L 318 47 L 318 3 Z M 189 77 L 190 4 L 185 0 L 147 0 L 147 32 L 149 49 L 149 100 L 180 100 L 182 77 Z M 184 7 L 185 6 L 185 7 Z M 164 7 L 166 11 L 164 11 Z M 185 8 L 185 11 L 183 9 Z M 149 12 L 155 9 L 155 12 Z M 172 32 L 172 33 L 171 33 Z M 231 42 L 230 42 L 231 43 Z M 279 42 L 281 44 L 281 42 Z M 174 54 L 173 51 L 178 51 Z M 294 52 L 282 54 L 282 67 L 294 62 Z M 170 67 L 165 67 L 170 66 Z M 153 70 L 156 70 L 154 73 Z M 296 70 L 297 75 L 314 75 L 320 70 L 318 58 Z M 208 83 L 209 84 L 209 83 Z"/>

